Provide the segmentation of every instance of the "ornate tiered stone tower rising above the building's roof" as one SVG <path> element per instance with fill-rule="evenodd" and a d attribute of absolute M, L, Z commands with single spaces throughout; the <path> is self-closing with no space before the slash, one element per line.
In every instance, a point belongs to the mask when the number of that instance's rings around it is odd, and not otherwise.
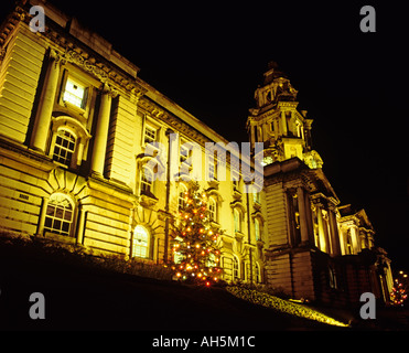
<path fill-rule="evenodd" d="M 312 119 L 306 110 L 298 110 L 298 90 L 284 73 L 270 62 L 263 74 L 263 84 L 256 89 L 256 108 L 249 109 L 247 131 L 251 146 L 262 142 L 262 164 L 281 162 L 294 157 L 311 169 L 321 168 L 323 162 L 311 147 Z"/>

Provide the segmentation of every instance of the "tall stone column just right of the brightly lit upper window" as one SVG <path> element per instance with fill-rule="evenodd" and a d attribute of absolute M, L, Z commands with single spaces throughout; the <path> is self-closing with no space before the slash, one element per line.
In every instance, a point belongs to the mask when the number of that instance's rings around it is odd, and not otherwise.
<path fill-rule="evenodd" d="M 97 175 L 104 174 L 104 164 L 107 151 L 110 107 L 112 92 L 107 85 L 104 86 L 100 97 L 97 128 L 95 131 L 94 150 L 90 169 Z"/>

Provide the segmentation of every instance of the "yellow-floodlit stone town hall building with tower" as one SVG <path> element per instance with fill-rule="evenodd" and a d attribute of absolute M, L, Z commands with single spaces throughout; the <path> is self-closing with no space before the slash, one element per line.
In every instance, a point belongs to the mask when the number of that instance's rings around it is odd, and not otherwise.
<path fill-rule="evenodd" d="M 247 193 L 240 172 L 226 168 L 218 181 L 218 154 L 205 158 L 206 142 L 226 139 L 140 79 L 110 43 L 31 2 L 0 30 L 2 233 L 166 261 L 190 185 L 189 178 L 169 178 L 169 150 L 187 171 L 200 153 L 202 174 L 190 176 L 207 192 L 209 217 L 223 229 L 226 281 L 340 304 L 365 291 L 388 301 L 390 260 L 375 246 L 365 211 L 340 203 L 311 148 L 312 119 L 298 110 L 298 92 L 277 65 L 263 74 L 247 119 L 252 157 L 241 163 L 255 167 L 255 143 L 263 143 L 263 186 Z M 34 33 L 30 8 L 37 3 L 46 22 Z M 165 151 L 147 153 L 151 142 Z M 152 181 L 153 173 L 168 178 Z"/>

